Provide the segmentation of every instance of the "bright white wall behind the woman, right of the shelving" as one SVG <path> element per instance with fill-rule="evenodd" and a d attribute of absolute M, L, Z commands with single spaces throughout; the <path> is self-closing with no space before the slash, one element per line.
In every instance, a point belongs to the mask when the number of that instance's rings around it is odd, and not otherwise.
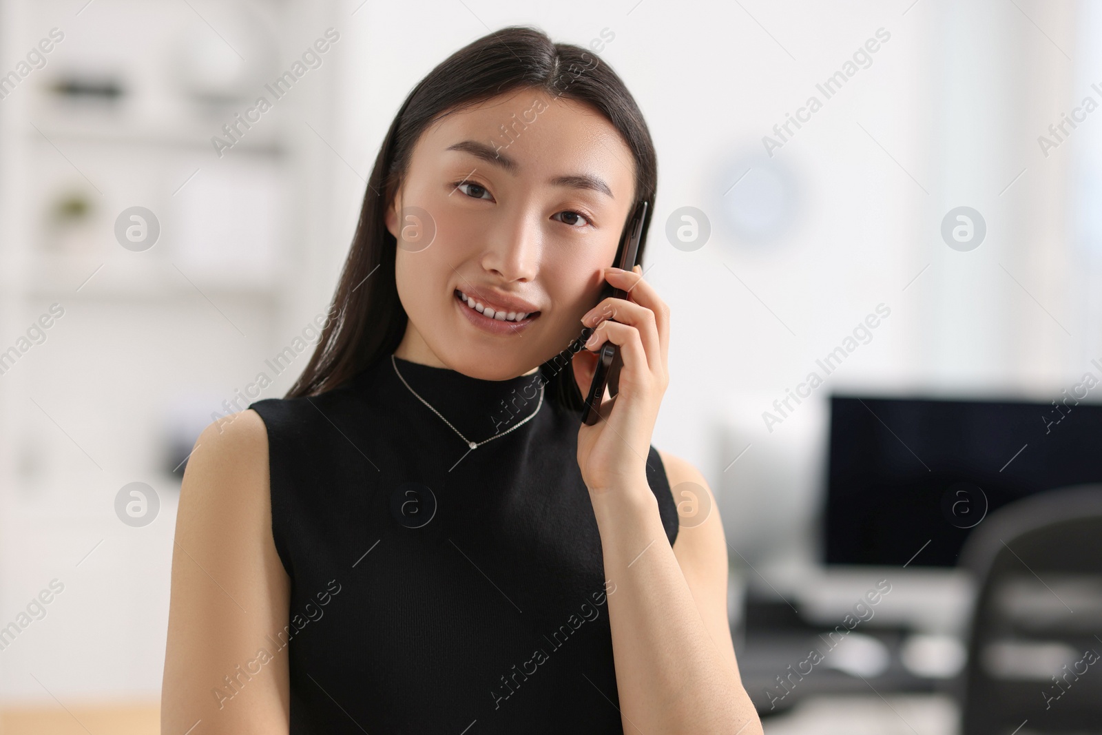
<path fill-rule="evenodd" d="M 1036 143 L 1070 109 L 1074 65 L 1054 43 L 1074 53 L 1076 7 L 1020 4 L 368 3 L 352 26 L 339 148 L 366 172 L 410 87 L 487 26 L 532 23 L 582 45 L 615 33 L 601 57 L 659 152 L 645 268 L 674 321 L 653 443 L 702 468 L 739 551 L 807 561 L 831 390 L 1036 397 L 1088 361 L 1087 325 L 1072 326 L 1082 287 L 1063 287 L 1078 269 L 1065 234 L 1069 149 L 1045 159 Z M 872 64 L 825 99 L 815 84 L 878 29 L 890 39 Z M 766 155 L 763 136 L 810 95 L 822 109 Z M 352 221 L 361 186 L 338 175 Z M 763 193 L 778 179 L 789 197 Z M 712 224 L 692 252 L 663 236 L 685 205 Z M 987 223 L 970 252 L 940 236 L 960 205 Z M 736 206 L 791 216 L 777 237 L 748 241 L 727 221 Z M 892 314 L 872 342 L 769 431 L 761 413 L 774 399 L 882 303 Z"/>

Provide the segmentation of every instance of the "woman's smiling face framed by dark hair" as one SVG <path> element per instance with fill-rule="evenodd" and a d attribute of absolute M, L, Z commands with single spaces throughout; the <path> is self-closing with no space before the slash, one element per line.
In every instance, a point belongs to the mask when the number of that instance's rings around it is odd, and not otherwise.
<path fill-rule="evenodd" d="M 586 105 L 522 89 L 445 116 L 387 213 L 409 315 L 396 354 L 487 380 L 534 370 L 580 334 L 634 197 L 631 151 Z"/>

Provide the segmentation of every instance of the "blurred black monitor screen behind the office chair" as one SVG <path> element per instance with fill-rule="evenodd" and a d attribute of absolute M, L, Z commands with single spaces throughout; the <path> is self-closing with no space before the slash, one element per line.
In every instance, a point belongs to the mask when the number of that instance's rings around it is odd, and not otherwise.
<path fill-rule="evenodd" d="M 1102 483 L 1102 406 L 833 396 L 829 446 L 828 564 L 953 566 L 1000 506 Z"/>

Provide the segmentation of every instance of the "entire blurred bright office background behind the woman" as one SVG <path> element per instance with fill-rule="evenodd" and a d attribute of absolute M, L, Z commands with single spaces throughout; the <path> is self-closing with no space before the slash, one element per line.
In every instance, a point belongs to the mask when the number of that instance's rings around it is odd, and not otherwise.
<path fill-rule="evenodd" d="M 304 366 L 271 360 L 412 85 L 515 23 L 612 64 L 656 139 L 653 444 L 715 493 L 766 732 L 1099 732 L 1092 531 L 1040 522 L 1096 494 L 1013 514 L 1102 480 L 1102 6 L 1073 0 L 0 0 L 0 729 L 156 732 L 182 462 Z M 885 507 L 927 462 L 929 507 Z"/>

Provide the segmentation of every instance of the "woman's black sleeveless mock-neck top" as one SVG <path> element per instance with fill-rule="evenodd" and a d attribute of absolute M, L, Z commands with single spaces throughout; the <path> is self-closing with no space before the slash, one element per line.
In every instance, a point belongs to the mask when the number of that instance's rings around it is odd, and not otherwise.
<path fill-rule="evenodd" d="M 291 579 L 267 649 L 290 656 L 292 734 L 623 732 L 581 420 L 541 382 L 388 356 L 250 407 Z M 672 545 L 653 446 L 646 473 Z"/>

